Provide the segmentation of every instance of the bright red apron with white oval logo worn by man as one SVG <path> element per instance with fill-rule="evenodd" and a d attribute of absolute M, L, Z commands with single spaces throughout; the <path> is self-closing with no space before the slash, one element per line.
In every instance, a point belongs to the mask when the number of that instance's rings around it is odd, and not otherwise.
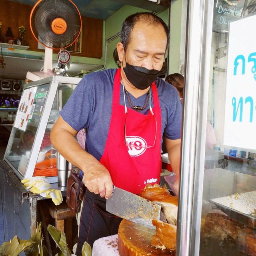
<path fill-rule="evenodd" d="M 114 78 L 110 128 L 100 163 L 110 172 L 115 186 L 139 194 L 146 184 L 160 182 L 161 109 L 153 82 L 154 115 L 151 111 L 147 115 L 140 114 L 131 108 L 125 114 L 125 106 L 119 104 L 120 79 L 118 69 Z"/>

